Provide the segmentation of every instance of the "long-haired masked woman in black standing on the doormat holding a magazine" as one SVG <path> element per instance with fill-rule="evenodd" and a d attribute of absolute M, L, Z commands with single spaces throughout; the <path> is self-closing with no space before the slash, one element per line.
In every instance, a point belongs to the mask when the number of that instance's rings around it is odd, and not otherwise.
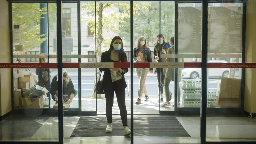
<path fill-rule="evenodd" d="M 118 50 L 119 53 L 115 51 Z M 127 55 L 123 51 L 123 41 L 121 37 L 115 36 L 110 44 L 109 50 L 103 52 L 100 62 L 127 62 Z M 118 74 L 121 74 L 122 78 L 112 82 L 110 70 L 112 68 L 99 68 L 100 71 L 104 71 L 103 75 L 103 90 L 106 98 L 106 116 L 108 120 L 108 126 L 106 132 L 112 132 L 112 107 L 114 104 L 114 92 L 116 93 L 116 99 L 120 110 L 120 116 L 124 127 L 124 135 L 131 134 L 131 130 L 128 128 L 127 110 L 125 106 L 125 88 L 127 87 L 124 74 L 128 72 L 128 68 L 121 68 L 118 70 Z"/>

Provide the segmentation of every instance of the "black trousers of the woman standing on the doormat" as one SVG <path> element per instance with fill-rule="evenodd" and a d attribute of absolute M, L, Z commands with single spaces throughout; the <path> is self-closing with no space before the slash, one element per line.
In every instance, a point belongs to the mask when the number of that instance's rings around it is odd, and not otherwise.
<path fill-rule="evenodd" d="M 120 110 L 123 126 L 128 126 L 124 88 L 115 89 L 115 87 L 110 87 L 107 91 L 104 90 L 105 97 L 106 97 L 106 116 L 107 116 L 108 123 L 112 123 L 112 107 L 114 104 L 114 92 L 116 92 L 117 104 Z"/>

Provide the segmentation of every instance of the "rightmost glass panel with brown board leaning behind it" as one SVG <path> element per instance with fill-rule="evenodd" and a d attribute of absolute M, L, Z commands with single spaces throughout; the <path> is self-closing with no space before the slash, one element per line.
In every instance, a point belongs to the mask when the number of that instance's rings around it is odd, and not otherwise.
<path fill-rule="evenodd" d="M 251 101 L 249 100 L 251 96 L 248 91 L 244 92 L 247 88 L 243 89 L 242 81 L 246 77 L 249 83 L 253 81 L 250 71 L 254 69 L 246 68 L 245 77 L 243 77 L 242 68 L 239 66 L 230 68 L 230 63 L 242 63 L 243 4 L 210 3 L 208 10 L 207 112 L 214 113 L 215 116 L 206 117 L 206 141 L 255 141 L 255 120 L 246 116 L 227 116 L 234 112 L 239 113 L 239 109 L 243 107 L 243 97 L 245 101 L 247 100 L 244 102 L 244 109 L 253 105 L 249 104 L 251 102 L 248 103 Z M 246 42 L 250 41 L 249 37 L 247 39 L 246 36 Z M 249 55 L 246 55 L 246 59 L 249 58 L 246 62 L 252 62 Z M 233 65 L 241 66 L 242 64 Z M 245 83 L 249 84 L 246 81 Z M 245 87 L 247 87 L 246 84 Z"/>

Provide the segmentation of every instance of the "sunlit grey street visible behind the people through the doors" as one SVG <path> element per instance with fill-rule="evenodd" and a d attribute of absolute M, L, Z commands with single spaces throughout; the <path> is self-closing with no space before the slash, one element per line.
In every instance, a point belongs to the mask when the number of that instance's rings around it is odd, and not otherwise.
<path fill-rule="evenodd" d="M 32 72 L 33 73 L 33 72 Z M 54 73 L 51 73 L 51 81 Z M 78 76 L 76 72 L 69 72 L 69 76 L 74 84 L 74 88 L 78 90 Z M 82 111 L 96 111 L 96 99 L 92 98 L 92 90 L 94 87 L 94 76 L 92 72 L 83 72 L 82 74 Z M 236 71 L 236 78 L 238 78 L 238 71 Z M 37 79 L 37 76 L 36 76 Z M 131 113 L 131 75 L 125 75 L 126 83 L 129 87 L 126 90 L 126 108 L 127 113 Z M 159 114 L 159 103 L 157 100 L 159 99 L 159 92 L 157 89 L 157 77 L 153 77 L 151 74 L 148 74 L 146 79 L 146 88 L 149 95 L 149 100 L 144 102 L 144 94 L 142 97 L 142 103 L 140 105 L 135 105 L 139 88 L 139 80 L 136 77 L 136 73 L 134 73 L 133 77 L 133 106 L 134 106 L 134 114 Z M 208 90 L 216 91 L 217 92 L 217 83 L 219 81 L 220 84 L 220 77 L 211 77 L 208 79 Z M 181 88 L 181 82 L 180 88 Z M 170 83 L 170 91 L 173 93 L 171 103 L 174 103 L 174 84 L 173 82 Z M 129 95 L 128 95 L 129 91 Z M 182 91 L 181 91 L 182 95 Z M 165 95 L 164 95 L 165 101 Z M 53 108 L 55 101 L 50 101 L 50 107 Z M 106 101 L 105 96 L 102 95 L 102 99 L 97 99 L 97 114 L 105 114 L 105 107 Z M 70 108 L 78 108 L 78 96 L 76 96 L 70 104 Z M 173 107 L 161 107 L 161 111 L 174 111 Z M 113 106 L 113 114 L 120 114 L 119 108 L 117 105 L 116 97 L 114 98 L 114 106 Z"/>

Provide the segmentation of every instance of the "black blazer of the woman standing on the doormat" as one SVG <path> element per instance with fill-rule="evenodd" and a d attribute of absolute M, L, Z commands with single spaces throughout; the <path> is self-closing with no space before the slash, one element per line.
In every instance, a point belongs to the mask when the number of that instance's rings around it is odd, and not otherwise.
<path fill-rule="evenodd" d="M 111 51 L 103 52 L 101 55 L 100 62 L 113 62 L 110 58 Z M 124 61 L 121 61 L 124 62 Z M 99 68 L 100 71 L 104 71 L 103 75 L 103 89 L 106 91 L 107 89 L 111 88 L 113 86 L 113 83 L 117 83 L 117 89 L 123 89 L 127 87 L 127 84 L 125 82 L 124 74 L 128 72 L 128 68 L 121 68 L 124 69 L 124 73 L 122 73 L 122 79 L 117 80 L 116 82 L 111 81 L 111 74 L 109 68 Z"/>

